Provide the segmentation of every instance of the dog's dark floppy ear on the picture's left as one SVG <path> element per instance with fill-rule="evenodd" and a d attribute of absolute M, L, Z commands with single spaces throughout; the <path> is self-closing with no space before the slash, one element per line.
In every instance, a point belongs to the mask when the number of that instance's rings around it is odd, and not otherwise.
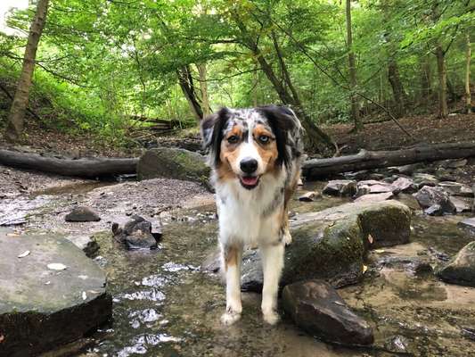
<path fill-rule="evenodd" d="M 201 120 L 201 138 L 203 148 L 209 152 L 211 162 L 219 163 L 221 154 L 221 140 L 223 139 L 223 130 L 229 118 L 230 112 L 227 108 L 221 108 Z"/>

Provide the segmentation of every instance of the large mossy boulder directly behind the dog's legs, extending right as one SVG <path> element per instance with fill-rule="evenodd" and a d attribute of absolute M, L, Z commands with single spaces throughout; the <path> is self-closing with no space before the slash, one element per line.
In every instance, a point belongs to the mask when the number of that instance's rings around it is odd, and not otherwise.
<path fill-rule="evenodd" d="M 286 248 L 281 286 L 312 278 L 335 287 L 355 284 L 367 249 L 407 243 L 410 222 L 409 208 L 392 200 L 300 214 L 291 221 L 293 242 Z M 262 281 L 258 252 L 245 253 L 242 289 L 260 291 Z"/>

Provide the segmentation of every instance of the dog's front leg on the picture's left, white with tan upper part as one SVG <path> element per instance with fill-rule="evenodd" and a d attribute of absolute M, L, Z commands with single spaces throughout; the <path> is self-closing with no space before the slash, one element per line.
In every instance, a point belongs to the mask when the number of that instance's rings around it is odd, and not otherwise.
<path fill-rule="evenodd" d="M 225 325 L 241 319 L 241 262 L 242 245 L 222 245 L 226 279 L 226 311 L 221 316 Z"/>

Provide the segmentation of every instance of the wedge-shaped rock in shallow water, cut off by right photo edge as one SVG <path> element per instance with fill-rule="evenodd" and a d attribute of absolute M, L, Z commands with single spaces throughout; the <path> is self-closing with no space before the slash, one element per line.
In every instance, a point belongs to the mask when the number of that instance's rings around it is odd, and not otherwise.
<path fill-rule="evenodd" d="M 447 283 L 475 286 L 475 242 L 465 245 L 437 275 Z"/>

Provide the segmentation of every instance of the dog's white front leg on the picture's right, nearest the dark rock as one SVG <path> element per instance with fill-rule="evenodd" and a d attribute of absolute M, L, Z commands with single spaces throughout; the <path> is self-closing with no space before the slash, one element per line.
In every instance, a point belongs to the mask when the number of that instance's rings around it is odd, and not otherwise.
<path fill-rule="evenodd" d="M 262 288 L 262 313 L 264 320 L 274 325 L 279 320 L 276 312 L 277 292 L 279 280 L 283 269 L 284 243 L 263 245 L 259 247 L 262 257 L 262 270 L 264 272 L 264 287 Z"/>

